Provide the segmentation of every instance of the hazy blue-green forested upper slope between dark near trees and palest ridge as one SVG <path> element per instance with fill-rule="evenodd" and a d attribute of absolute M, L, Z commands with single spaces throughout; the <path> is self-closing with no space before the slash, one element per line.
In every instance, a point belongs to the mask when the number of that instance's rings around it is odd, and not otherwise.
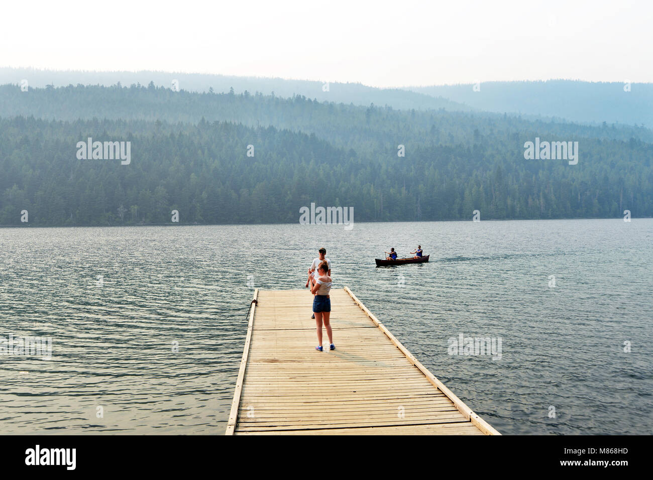
<path fill-rule="evenodd" d="M 338 146 L 430 142 L 471 146 L 481 135 L 506 132 L 526 136 L 555 135 L 579 138 L 653 142 L 653 131 L 628 125 L 592 127 L 575 123 L 522 120 L 505 114 L 448 112 L 443 110 L 396 110 L 388 106 L 321 103 L 303 96 L 289 99 L 261 93 L 191 93 L 148 86 L 67 86 L 20 91 L 15 85 L 0 86 L 0 116 L 30 116 L 48 120 L 108 118 L 176 123 L 235 121 L 252 127 L 274 125 L 315 135 Z M 512 140 L 511 140 L 512 142 Z M 523 144 L 523 142 L 522 142 Z"/>

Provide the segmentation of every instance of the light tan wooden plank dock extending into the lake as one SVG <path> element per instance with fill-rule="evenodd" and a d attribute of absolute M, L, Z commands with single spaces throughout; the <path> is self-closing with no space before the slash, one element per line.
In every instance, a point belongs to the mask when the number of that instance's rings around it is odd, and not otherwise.
<path fill-rule="evenodd" d="M 255 291 L 226 435 L 498 435 L 347 288 L 315 350 L 308 289 Z"/>

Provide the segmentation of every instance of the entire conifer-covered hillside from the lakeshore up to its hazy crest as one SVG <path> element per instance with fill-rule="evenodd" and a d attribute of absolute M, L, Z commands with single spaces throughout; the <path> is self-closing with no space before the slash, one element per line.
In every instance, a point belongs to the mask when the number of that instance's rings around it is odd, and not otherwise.
<path fill-rule="evenodd" d="M 352 206 L 355 221 L 653 214 L 648 129 L 153 85 L 3 86 L 0 101 L 3 225 L 22 210 L 29 225 L 163 223 L 172 210 L 182 223 L 296 222 L 311 202 Z M 536 136 L 578 141 L 579 163 L 525 160 Z M 88 137 L 131 142 L 131 163 L 78 159 Z"/>

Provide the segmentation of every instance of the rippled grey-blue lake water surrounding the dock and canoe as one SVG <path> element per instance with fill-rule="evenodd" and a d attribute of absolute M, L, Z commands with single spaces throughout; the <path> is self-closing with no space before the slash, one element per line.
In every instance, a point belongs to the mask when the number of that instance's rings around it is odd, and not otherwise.
<path fill-rule="evenodd" d="M 251 285 L 303 287 L 321 246 L 503 434 L 653 431 L 653 219 L 614 219 L 0 229 L 0 337 L 52 338 L 0 355 L 0 432 L 222 434 Z M 449 355 L 460 334 L 501 358 Z"/>

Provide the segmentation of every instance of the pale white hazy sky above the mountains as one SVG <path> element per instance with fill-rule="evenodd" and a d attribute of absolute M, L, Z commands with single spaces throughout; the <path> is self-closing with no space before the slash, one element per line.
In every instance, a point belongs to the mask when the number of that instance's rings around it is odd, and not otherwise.
<path fill-rule="evenodd" d="M 653 82 L 650 1 L 10 1 L 0 66 L 372 86 Z"/>

